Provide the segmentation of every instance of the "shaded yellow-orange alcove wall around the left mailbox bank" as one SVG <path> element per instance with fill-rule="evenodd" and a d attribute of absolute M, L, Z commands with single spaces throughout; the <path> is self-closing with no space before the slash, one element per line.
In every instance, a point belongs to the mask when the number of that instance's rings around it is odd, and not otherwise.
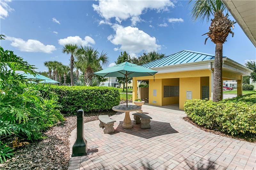
<path fill-rule="evenodd" d="M 164 85 L 179 85 L 179 78 L 164 78 L 162 79 L 162 106 L 179 103 L 179 96 L 164 97 Z"/>

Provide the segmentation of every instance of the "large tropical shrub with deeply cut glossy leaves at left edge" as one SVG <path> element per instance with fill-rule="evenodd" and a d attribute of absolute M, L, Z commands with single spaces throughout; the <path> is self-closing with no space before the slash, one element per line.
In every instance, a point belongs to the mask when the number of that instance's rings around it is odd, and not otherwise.
<path fill-rule="evenodd" d="M 25 85 L 26 80 L 17 72 L 35 75 L 34 69 L 13 51 L 0 46 L 1 163 L 14 154 L 11 146 L 7 145 L 13 138 L 18 142 L 20 139 L 39 139 L 42 131 L 64 120 L 58 110 L 58 96 L 48 86 Z"/>

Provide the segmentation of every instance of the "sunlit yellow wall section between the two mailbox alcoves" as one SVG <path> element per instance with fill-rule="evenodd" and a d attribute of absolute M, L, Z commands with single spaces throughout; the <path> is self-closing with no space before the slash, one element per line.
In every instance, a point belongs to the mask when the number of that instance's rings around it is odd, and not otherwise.
<path fill-rule="evenodd" d="M 180 78 L 180 109 L 184 109 L 187 91 L 192 92 L 192 99 L 201 99 L 200 77 Z"/>

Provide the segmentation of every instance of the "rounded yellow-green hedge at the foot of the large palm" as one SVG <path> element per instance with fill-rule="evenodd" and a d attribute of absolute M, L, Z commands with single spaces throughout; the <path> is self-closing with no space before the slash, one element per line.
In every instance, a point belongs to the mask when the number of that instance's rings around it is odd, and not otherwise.
<path fill-rule="evenodd" d="M 213 102 L 192 99 L 185 101 L 189 118 L 208 129 L 219 129 L 232 136 L 256 137 L 256 94 Z"/>

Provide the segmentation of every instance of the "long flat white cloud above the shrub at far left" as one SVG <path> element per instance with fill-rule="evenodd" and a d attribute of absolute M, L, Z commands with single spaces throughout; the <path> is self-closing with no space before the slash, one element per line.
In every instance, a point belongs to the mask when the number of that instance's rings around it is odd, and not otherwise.
<path fill-rule="evenodd" d="M 18 48 L 20 51 L 52 53 L 52 51 L 56 50 L 54 45 L 44 45 L 38 40 L 28 39 L 28 41 L 24 41 L 21 38 L 8 36 L 6 40 L 12 41 L 11 46 Z"/>

